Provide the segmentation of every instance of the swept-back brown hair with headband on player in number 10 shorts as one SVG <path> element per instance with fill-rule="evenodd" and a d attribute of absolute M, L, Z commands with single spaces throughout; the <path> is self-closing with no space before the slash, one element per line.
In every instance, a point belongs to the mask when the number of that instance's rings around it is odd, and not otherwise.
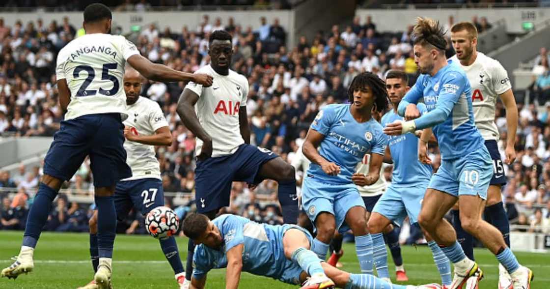
<path fill-rule="evenodd" d="M 416 18 L 416 25 L 412 29 L 412 43 L 422 46 L 428 44 L 439 51 L 445 51 L 447 47 L 445 31 L 439 21 L 423 17 Z"/>

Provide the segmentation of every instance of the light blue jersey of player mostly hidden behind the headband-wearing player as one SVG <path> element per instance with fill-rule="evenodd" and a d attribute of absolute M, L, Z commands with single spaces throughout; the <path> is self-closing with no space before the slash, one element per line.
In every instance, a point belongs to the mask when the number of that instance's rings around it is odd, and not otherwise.
<path fill-rule="evenodd" d="M 421 114 L 427 112 L 423 103 L 417 105 Z M 390 110 L 381 119 L 383 127 L 403 117 Z M 432 166 L 421 163 L 418 159 L 419 138 L 413 133 L 388 135 L 389 151 L 393 159 L 392 184 L 427 183 L 432 177 Z"/>

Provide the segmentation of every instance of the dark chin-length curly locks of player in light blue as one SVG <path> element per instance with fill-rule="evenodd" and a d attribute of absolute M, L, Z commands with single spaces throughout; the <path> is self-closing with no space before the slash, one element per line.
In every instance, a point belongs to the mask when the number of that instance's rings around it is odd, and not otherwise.
<path fill-rule="evenodd" d="M 366 86 L 371 88 L 372 95 L 375 97 L 375 110 L 378 112 L 385 111 L 389 103 L 386 83 L 378 75 L 371 72 L 362 72 L 351 80 L 348 88 L 349 101 L 353 102 L 353 92 L 355 90 L 361 90 Z"/>

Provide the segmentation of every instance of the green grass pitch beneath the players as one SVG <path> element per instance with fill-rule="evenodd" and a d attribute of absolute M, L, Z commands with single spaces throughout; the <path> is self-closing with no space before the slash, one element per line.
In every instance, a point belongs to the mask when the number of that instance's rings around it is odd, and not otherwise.
<path fill-rule="evenodd" d="M 19 253 L 23 232 L 0 231 L 0 266 L 5 268 L 11 257 Z M 17 280 L 0 279 L 0 288 L 76 288 L 92 278 L 87 234 L 43 233 L 35 252 L 35 269 Z M 185 265 L 187 240 L 178 238 L 180 255 Z M 344 270 L 359 272 L 354 244 L 344 244 Z M 402 248 L 409 283 L 439 281 L 430 250 L 425 247 Z M 480 288 L 497 288 L 498 267 L 494 256 L 484 249 L 476 250 L 476 258 L 485 271 Z M 516 253 L 520 262 L 530 266 L 535 280 L 531 288 L 550 288 L 550 254 Z M 394 266 L 389 257 L 389 268 L 394 279 Z M 114 243 L 113 285 L 115 288 L 177 288 L 172 269 L 164 259 L 160 244 L 149 236 L 117 236 Z M 225 287 L 225 271 L 208 274 L 206 288 Z M 240 288 L 277 289 L 298 288 L 279 281 L 244 273 Z"/>

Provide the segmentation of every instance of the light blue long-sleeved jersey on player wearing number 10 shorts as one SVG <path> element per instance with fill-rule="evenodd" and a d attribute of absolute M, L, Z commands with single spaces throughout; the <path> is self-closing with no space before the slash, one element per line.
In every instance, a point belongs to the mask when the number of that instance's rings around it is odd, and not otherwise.
<path fill-rule="evenodd" d="M 433 77 L 421 74 L 399 103 L 399 115 L 420 97 L 428 113 L 414 120 L 416 129 L 433 127 L 442 160 L 458 159 L 484 145 L 474 123 L 470 82 L 462 68 L 449 62 Z"/>

